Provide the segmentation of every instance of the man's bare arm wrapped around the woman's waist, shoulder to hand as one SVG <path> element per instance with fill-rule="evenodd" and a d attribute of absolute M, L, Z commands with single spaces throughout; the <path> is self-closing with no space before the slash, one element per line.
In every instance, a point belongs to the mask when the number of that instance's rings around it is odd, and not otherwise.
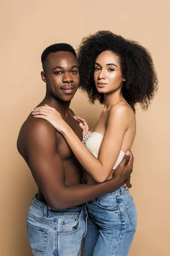
<path fill-rule="evenodd" d="M 132 172 L 133 157 L 126 167 L 128 157 L 125 157 L 113 179 L 99 184 L 67 186 L 64 166 L 57 153 L 55 130 L 43 120 L 27 132 L 26 151 L 32 175 L 51 209 L 74 207 L 115 190 Z"/>

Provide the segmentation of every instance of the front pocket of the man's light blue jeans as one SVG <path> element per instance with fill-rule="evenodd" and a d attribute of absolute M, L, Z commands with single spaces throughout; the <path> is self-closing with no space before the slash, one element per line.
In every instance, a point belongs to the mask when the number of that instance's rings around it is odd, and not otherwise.
<path fill-rule="evenodd" d="M 76 232 L 79 229 L 80 226 L 80 220 L 79 215 L 68 215 L 64 216 L 62 219 L 62 231 L 63 235 L 70 235 Z M 59 235 L 62 235 L 60 233 Z"/>

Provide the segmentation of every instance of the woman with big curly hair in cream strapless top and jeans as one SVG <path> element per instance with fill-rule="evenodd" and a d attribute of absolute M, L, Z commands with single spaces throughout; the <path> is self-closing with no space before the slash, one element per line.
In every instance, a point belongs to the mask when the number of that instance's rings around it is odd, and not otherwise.
<path fill-rule="evenodd" d="M 34 110 L 62 133 L 86 170 L 87 183 L 111 179 L 114 169 L 129 151 L 136 133 L 135 107 L 146 110 L 157 90 L 157 77 L 150 53 L 135 41 L 109 31 L 99 31 L 82 40 L 78 49 L 80 88 L 92 103 L 104 109 L 91 132 L 84 119 L 81 143 L 60 114 L 45 105 Z M 83 145 L 84 144 L 84 145 Z M 127 255 L 137 225 L 136 207 L 121 186 L 87 203 L 88 232 L 84 256 Z"/>

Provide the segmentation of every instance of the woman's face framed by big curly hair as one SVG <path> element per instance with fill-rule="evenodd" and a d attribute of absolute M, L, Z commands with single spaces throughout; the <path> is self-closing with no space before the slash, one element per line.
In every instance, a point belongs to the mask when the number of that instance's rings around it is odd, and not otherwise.
<path fill-rule="evenodd" d="M 122 85 L 122 71 L 118 57 L 110 51 L 99 54 L 94 65 L 94 82 L 99 93 L 111 93 Z"/>

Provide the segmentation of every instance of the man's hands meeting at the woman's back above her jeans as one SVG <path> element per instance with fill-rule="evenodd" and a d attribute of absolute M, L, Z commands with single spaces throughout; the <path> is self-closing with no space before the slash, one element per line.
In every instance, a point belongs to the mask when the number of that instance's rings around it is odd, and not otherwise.
<path fill-rule="evenodd" d="M 123 186 L 125 189 L 130 189 L 132 185 L 130 184 L 130 175 L 133 172 L 133 154 L 132 151 L 127 151 L 113 172 L 113 177 L 123 180 Z"/>

